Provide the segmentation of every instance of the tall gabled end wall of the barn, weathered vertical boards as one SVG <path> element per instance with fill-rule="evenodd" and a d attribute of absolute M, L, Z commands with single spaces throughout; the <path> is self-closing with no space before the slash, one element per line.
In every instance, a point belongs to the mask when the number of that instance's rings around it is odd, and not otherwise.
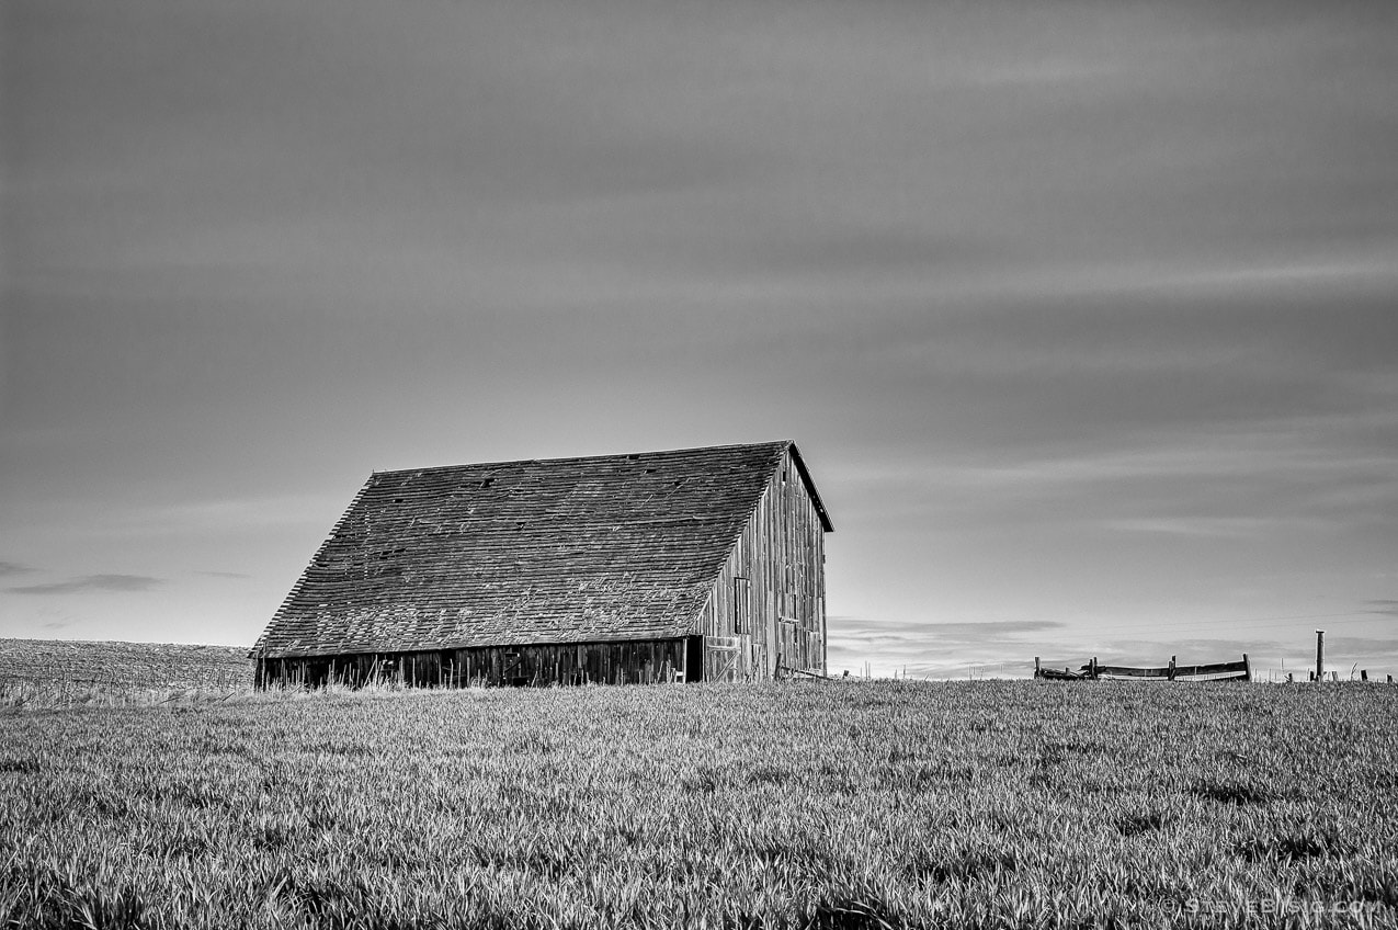
<path fill-rule="evenodd" d="M 787 452 L 709 594 L 705 680 L 825 674 L 825 534 Z"/>

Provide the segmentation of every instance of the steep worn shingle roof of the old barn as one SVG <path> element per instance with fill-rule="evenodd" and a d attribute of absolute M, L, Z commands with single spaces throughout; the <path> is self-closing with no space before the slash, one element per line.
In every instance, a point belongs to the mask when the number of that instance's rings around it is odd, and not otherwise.
<path fill-rule="evenodd" d="M 273 617 L 263 657 L 692 632 L 787 441 L 379 471 Z"/>

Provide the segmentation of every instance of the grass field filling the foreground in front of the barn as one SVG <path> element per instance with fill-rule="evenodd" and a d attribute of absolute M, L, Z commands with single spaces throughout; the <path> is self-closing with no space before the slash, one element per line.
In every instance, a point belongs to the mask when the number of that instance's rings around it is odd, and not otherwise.
<path fill-rule="evenodd" d="M 1391 927 L 1395 720 L 1028 681 L 10 710 L 0 922 Z"/>

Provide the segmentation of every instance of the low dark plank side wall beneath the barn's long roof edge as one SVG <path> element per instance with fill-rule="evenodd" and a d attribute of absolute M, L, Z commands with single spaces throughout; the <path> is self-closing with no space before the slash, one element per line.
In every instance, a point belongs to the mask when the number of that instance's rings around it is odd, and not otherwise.
<path fill-rule="evenodd" d="M 259 659 L 257 687 L 372 681 L 418 688 L 470 685 L 656 684 L 698 681 L 698 638 L 482 646 L 425 652 Z"/>

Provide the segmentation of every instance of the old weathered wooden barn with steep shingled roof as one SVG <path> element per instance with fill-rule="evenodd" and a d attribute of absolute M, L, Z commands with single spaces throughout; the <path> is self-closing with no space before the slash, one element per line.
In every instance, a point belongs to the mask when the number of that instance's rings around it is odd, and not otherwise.
<path fill-rule="evenodd" d="M 829 531 L 791 442 L 375 473 L 253 648 L 257 682 L 825 674 Z"/>

